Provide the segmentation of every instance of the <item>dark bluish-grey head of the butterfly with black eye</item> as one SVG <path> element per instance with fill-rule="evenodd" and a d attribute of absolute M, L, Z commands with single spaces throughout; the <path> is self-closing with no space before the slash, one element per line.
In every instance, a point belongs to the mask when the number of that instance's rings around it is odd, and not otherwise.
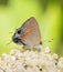
<path fill-rule="evenodd" d="M 21 30 L 17 29 L 14 34 L 12 35 L 12 41 L 17 44 L 21 44 L 20 33 Z"/>

